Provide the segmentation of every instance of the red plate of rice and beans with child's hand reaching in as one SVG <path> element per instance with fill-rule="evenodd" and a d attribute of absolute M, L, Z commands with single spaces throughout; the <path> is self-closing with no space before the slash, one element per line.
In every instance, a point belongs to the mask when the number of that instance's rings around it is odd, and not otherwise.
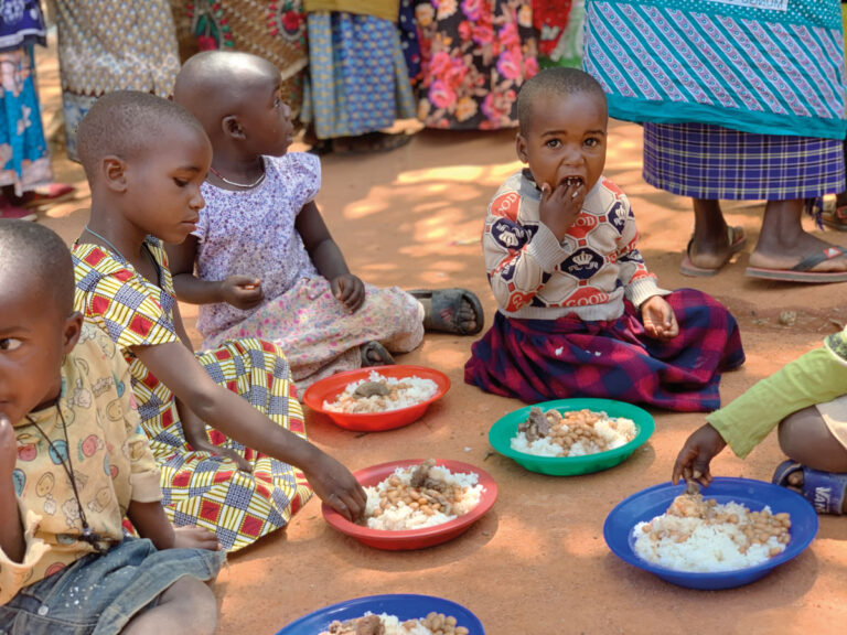
<path fill-rule="evenodd" d="M 351 523 L 325 504 L 323 517 L 377 549 L 422 549 L 452 540 L 497 498 L 497 485 L 486 472 L 459 461 L 394 461 L 353 475 L 367 494 L 364 518 Z"/>

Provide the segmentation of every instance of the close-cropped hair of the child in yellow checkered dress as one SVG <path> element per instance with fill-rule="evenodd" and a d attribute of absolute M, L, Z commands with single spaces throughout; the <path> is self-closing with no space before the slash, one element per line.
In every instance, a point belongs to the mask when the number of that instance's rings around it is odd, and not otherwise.
<path fill-rule="evenodd" d="M 76 134 L 79 161 L 93 182 L 97 166 L 108 155 L 128 160 L 169 143 L 168 128 L 180 123 L 203 132 L 194 116 L 168 99 L 137 90 L 117 90 L 94 103 Z"/>

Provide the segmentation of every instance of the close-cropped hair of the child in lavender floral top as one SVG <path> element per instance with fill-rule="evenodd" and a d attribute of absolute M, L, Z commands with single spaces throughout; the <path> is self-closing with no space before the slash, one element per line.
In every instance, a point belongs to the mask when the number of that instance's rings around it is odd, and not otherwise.
<path fill-rule="evenodd" d="M 204 51 L 189 58 L 176 76 L 173 99 L 191 110 L 210 137 L 221 120 L 237 115 L 253 97 L 250 88 L 280 78 L 267 60 L 236 51 Z"/>

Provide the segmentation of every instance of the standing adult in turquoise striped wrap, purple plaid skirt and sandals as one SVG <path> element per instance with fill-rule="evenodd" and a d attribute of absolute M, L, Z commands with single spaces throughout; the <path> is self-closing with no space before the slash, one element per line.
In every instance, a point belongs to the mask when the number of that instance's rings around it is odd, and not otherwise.
<path fill-rule="evenodd" d="M 585 67 L 609 114 L 643 121 L 644 180 L 694 200 L 689 276 L 744 245 L 719 200 L 766 200 L 747 276 L 847 281 L 847 257 L 803 229 L 804 204 L 845 186 L 838 0 L 589 0 Z"/>

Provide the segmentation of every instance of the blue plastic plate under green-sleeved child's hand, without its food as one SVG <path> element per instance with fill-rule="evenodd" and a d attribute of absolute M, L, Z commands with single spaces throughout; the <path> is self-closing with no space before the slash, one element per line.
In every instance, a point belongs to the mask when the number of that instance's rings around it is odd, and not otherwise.
<path fill-rule="evenodd" d="M 750 584 L 766 575 L 772 569 L 796 558 L 817 534 L 817 514 L 800 494 L 762 481 L 718 477 L 703 489 L 705 497 L 715 498 L 718 503 L 735 501 L 753 512 L 759 512 L 768 505 L 773 514 L 787 512 L 791 515 L 791 541 L 785 550 L 755 567 L 714 573 L 675 571 L 643 560 L 633 548 L 635 543 L 633 528 L 641 521 L 647 521 L 667 512 L 673 499 L 684 491 L 685 484 L 663 483 L 637 492 L 619 503 L 609 513 L 603 525 L 603 538 L 612 552 L 624 562 L 655 573 L 663 580 L 679 586 L 732 589 Z"/>

